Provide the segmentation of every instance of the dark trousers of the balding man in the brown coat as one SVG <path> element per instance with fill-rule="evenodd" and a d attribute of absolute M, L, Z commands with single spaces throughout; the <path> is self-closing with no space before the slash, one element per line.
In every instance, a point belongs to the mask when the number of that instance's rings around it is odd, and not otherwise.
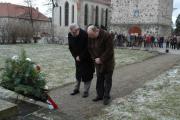
<path fill-rule="evenodd" d="M 96 91 L 100 98 L 110 98 L 113 72 L 97 73 Z"/>

